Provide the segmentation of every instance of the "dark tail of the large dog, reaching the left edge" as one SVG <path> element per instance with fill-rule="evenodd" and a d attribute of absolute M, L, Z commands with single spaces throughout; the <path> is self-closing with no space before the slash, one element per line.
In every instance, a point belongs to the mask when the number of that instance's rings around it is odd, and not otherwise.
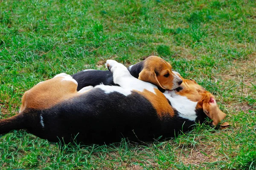
<path fill-rule="evenodd" d="M 23 112 L 10 118 L 0 120 L 0 134 L 20 129 L 26 129 L 26 115 L 23 114 Z"/>

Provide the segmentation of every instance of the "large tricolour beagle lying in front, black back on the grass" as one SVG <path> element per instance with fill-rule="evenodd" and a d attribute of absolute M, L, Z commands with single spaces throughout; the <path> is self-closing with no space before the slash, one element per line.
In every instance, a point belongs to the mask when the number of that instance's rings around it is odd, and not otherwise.
<path fill-rule="evenodd" d="M 101 144 L 123 137 L 150 141 L 190 130 L 207 116 L 215 124 L 223 118 L 216 116 L 217 105 L 209 93 L 198 102 L 172 97 L 172 92 L 162 93 L 154 84 L 134 78 L 121 63 L 108 60 L 106 66 L 119 86 L 100 84 L 77 91 L 70 75 L 56 75 L 24 93 L 20 112 L 0 120 L 0 134 L 27 129 L 54 142 Z"/>

